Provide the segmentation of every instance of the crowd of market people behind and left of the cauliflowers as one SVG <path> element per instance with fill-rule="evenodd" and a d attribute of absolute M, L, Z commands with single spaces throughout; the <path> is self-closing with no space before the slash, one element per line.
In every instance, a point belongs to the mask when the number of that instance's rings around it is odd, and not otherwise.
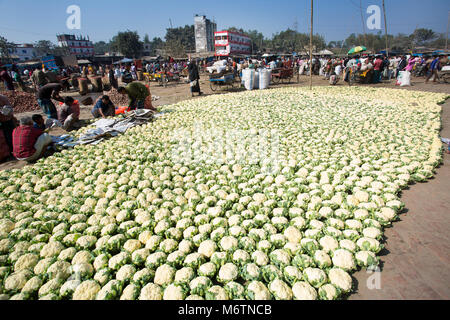
<path fill-rule="evenodd" d="M 380 83 L 383 79 L 397 79 L 400 72 L 414 72 L 425 77 L 425 82 L 433 79 L 439 81 L 438 71 L 449 65 L 447 56 L 408 55 L 353 55 L 343 58 L 314 56 L 309 57 L 264 57 L 228 58 L 223 61 L 223 72 L 237 72 L 246 68 L 294 68 L 300 75 L 322 76 L 335 84 L 339 79 L 349 81 L 350 71 L 357 72 L 362 83 Z M 77 88 L 79 77 L 89 76 L 106 77 L 112 88 L 119 94 L 128 96 L 128 110 L 156 109 L 152 105 L 149 87 L 139 80 L 138 72 L 147 73 L 182 73 L 185 72 L 190 83 L 192 96 L 194 93 L 202 94 L 200 90 L 200 70 L 206 71 L 213 61 L 206 59 L 191 61 L 155 61 L 147 63 L 138 70 L 134 63 L 111 65 L 86 65 L 82 67 L 65 67 L 48 70 L 45 67 L 25 69 L 19 71 L 16 65 L 10 70 L 6 67 L 0 69 L 0 79 L 4 82 L 6 90 L 15 90 L 14 82 L 23 91 L 27 91 L 26 82 L 31 83 L 36 92 L 36 101 L 44 117 L 34 114 L 32 117 L 23 117 L 17 120 L 14 117 L 12 104 L 6 96 L 0 95 L 0 160 L 14 156 L 16 159 L 33 162 L 41 157 L 45 150 L 51 146 L 49 129 L 58 126 L 69 131 L 73 129 L 80 119 L 80 105 L 70 95 L 62 96 L 71 86 Z M 120 84 L 120 85 L 119 85 Z M 57 101 L 55 105 L 53 101 Z M 108 95 L 102 95 L 94 102 L 91 114 L 94 118 L 106 118 L 116 114 L 116 106 Z M 6 155 L 6 156 L 5 156 Z"/>

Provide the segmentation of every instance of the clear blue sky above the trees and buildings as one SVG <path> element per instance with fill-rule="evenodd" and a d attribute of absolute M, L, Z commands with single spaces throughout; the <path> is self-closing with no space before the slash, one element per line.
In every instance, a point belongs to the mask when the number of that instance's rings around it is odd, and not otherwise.
<path fill-rule="evenodd" d="M 360 0 L 315 0 L 314 33 L 327 42 L 344 40 L 351 33 L 363 33 Z M 370 5 L 382 8 L 381 0 L 361 0 L 364 20 Z M 385 0 L 388 32 L 412 33 L 416 28 L 445 33 L 450 12 L 449 0 Z M 81 29 L 66 26 L 67 7 L 78 5 Z M 88 35 L 94 42 L 109 41 L 117 32 L 136 30 L 143 39 L 148 34 L 163 38 L 166 28 L 194 23 L 194 15 L 206 15 L 217 23 L 218 31 L 228 27 L 256 29 L 265 37 L 293 29 L 308 33 L 310 0 L 0 0 L 0 36 L 15 43 L 50 40 L 56 34 Z M 382 13 L 382 12 L 381 12 Z M 381 15 L 382 17 L 382 15 Z M 384 33 L 384 20 L 381 19 Z M 379 30 L 367 30 L 376 33 Z"/>

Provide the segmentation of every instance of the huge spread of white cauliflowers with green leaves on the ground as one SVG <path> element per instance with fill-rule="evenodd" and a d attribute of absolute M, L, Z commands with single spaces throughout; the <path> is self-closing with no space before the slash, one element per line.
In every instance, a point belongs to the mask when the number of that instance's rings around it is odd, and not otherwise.
<path fill-rule="evenodd" d="M 338 299 L 441 162 L 446 96 L 215 95 L 0 172 L 2 299 Z"/>

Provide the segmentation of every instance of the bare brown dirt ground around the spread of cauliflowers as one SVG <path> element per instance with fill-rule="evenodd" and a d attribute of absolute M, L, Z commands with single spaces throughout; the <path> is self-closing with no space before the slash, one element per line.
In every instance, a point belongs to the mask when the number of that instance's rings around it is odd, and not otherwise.
<path fill-rule="evenodd" d="M 313 78 L 313 85 L 328 85 L 321 77 Z M 345 86 L 342 81 L 337 86 Z M 271 85 L 309 86 L 309 77 L 301 76 L 299 83 Z M 424 83 L 423 78 L 413 78 L 411 87 L 398 87 L 394 82 L 385 82 L 374 87 L 399 90 L 420 90 L 450 94 L 450 84 Z M 206 76 L 202 76 L 200 87 L 205 95 L 226 93 L 212 92 Z M 152 95 L 160 99 L 155 106 L 162 106 L 192 98 L 189 84 L 168 84 L 166 87 L 151 83 Z M 244 90 L 244 89 L 241 89 Z M 77 98 L 76 95 L 73 95 Z M 100 94 L 90 94 L 94 100 Z M 442 105 L 441 135 L 450 138 L 450 99 Z M 81 107 L 81 119 L 92 118 L 92 106 Z M 16 115 L 19 116 L 20 115 Z M 57 129 L 51 134 L 62 134 Z M 21 168 L 21 161 L 0 164 L 0 170 Z M 407 212 L 400 221 L 385 230 L 385 249 L 381 254 L 380 270 L 366 270 L 353 274 L 356 292 L 350 300 L 365 299 L 450 299 L 450 155 L 444 155 L 444 164 L 437 169 L 436 176 L 426 183 L 411 185 L 404 190 L 401 200 Z"/>

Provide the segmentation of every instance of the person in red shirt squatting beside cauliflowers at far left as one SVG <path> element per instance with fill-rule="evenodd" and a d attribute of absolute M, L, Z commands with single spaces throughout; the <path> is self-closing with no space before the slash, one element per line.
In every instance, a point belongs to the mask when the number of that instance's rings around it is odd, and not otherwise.
<path fill-rule="evenodd" d="M 17 160 L 34 162 L 43 156 L 51 143 L 48 133 L 33 128 L 31 117 L 20 119 L 20 126 L 13 131 L 13 155 Z"/>

